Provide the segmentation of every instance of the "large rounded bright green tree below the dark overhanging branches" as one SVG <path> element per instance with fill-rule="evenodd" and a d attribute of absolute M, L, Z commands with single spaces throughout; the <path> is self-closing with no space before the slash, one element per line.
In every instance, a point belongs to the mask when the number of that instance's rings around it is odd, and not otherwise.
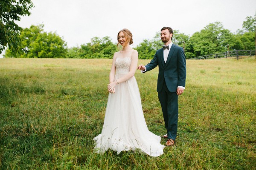
<path fill-rule="evenodd" d="M 20 33 L 17 49 L 8 48 L 5 57 L 22 58 L 65 58 L 66 42 L 56 33 L 44 32 L 44 25 L 30 26 Z"/>

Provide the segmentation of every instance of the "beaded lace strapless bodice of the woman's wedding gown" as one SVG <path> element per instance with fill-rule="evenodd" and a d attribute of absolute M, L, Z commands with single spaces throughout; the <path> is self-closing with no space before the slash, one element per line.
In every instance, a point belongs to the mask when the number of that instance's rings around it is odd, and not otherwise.
<path fill-rule="evenodd" d="M 130 71 L 131 58 L 116 58 L 116 74 L 127 74 Z"/>

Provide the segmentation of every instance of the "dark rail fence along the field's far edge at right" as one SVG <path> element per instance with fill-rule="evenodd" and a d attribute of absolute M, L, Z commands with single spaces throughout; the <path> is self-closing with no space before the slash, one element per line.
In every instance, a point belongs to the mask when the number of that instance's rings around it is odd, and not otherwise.
<path fill-rule="evenodd" d="M 209 54 L 204 56 L 198 56 L 191 59 L 214 59 L 214 58 L 227 58 L 227 57 L 236 57 L 239 59 L 239 56 L 254 56 L 255 50 L 234 50 L 226 51 L 224 53 Z"/>

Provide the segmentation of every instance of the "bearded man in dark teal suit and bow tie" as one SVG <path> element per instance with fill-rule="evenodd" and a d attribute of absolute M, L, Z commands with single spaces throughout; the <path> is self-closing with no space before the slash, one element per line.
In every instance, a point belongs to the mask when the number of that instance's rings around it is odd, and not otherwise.
<path fill-rule="evenodd" d="M 159 68 L 157 92 L 167 134 L 166 145 L 172 146 L 177 136 L 178 96 L 183 94 L 186 82 L 186 58 L 183 48 L 172 43 L 173 30 L 170 27 L 161 29 L 163 48 L 157 50 L 154 58 L 147 65 L 139 65 L 143 73 Z"/>

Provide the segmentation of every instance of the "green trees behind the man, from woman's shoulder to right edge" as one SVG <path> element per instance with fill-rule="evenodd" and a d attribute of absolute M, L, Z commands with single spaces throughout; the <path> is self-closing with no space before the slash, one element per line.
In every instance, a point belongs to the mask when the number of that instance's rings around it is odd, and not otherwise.
<path fill-rule="evenodd" d="M 228 48 L 229 50 L 255 50 L 255 28 L 256 14 L 254 17 L 246 17 L 243 30 L 238 30 L 237 34 L 225 29 L 220 22 L 215 22 L 195 32 L 191 37 L 175 30 L 172 41 L 181 47 L 185 45 L 186 58 L 221 53 Z M 160 35 L 157 33 L 152 40 L 143 40 L 135 49 L 139 52 L 140 59 L 152 59 L 155 51 L 162 45 Z"/>

